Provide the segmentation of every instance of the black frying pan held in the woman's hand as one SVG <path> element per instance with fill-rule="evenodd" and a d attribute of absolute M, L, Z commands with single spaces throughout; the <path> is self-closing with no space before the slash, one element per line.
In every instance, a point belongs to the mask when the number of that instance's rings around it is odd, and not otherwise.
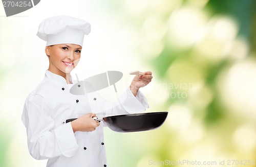
<path fill-rule="evenodd" d="M 125 114 L 107 116 L 102 119 L 93 117 L 97 122 L 103 121 L 106 126 L 116 132 L 139 132 L 153 130 L 160 127 L 168 112 L 148 112 L 138 114 Z M 66 123 L 76 120 L 76 118 L 66 120 Z"/>

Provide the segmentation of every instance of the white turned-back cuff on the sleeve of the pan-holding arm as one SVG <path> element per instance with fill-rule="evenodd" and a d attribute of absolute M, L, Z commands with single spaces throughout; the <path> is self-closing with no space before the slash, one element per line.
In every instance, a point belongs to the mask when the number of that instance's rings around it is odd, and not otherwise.
<path fill-rule="evenodd" d="M 67 123 L 54 130 L 54 134 L 59 146 L 59 150 L 65 157 L 72 157 L 78 150 L 76 138 L 71 126 Z"/>

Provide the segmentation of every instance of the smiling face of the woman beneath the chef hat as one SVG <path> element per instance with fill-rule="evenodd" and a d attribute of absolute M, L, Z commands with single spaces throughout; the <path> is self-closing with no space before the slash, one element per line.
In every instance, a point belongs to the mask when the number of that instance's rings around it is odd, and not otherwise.
<path fill-rule="evenodd" d="M 46 46 L 49 58 L 49 71 L 65 76 L 76 67 L 81 57 L 82 47 L 77 44 L 55 44 Z"/>

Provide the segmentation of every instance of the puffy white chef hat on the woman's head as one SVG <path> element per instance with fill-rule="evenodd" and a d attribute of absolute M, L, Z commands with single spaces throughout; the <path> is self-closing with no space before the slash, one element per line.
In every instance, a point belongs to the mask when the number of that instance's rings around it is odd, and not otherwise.
<path fill-rule="evenodd" d="M 39 25 L 37 36 L 47 41 L 47 46 L 72 43 L 82 46 L 84 34 L 91 32 L 91 24 L 70 16 L 54 16 Z"/>

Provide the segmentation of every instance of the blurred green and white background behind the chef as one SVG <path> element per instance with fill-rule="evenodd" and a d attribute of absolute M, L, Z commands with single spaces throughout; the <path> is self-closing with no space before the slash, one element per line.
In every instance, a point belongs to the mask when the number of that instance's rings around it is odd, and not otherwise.
<path fill-rule="evenodd" d="M 141 89 L 146 112 L 169 111 L 157 130 L 105 128 L 109 166 L 182 166 L 158 164 L 166 160 L 255 166 L 248 161 L 256 159 L 255 6 L 253 0 L 44 0 L 12 17 L 0 9 L 0 166 L 46 166 L 29 155 L 20 116 L 48 68 L 38 25 L 60 14 L 92 23 L 74 74 L 122 71 L 121 93 L 130 71 L 151 70 L 153 81 Z"/>

